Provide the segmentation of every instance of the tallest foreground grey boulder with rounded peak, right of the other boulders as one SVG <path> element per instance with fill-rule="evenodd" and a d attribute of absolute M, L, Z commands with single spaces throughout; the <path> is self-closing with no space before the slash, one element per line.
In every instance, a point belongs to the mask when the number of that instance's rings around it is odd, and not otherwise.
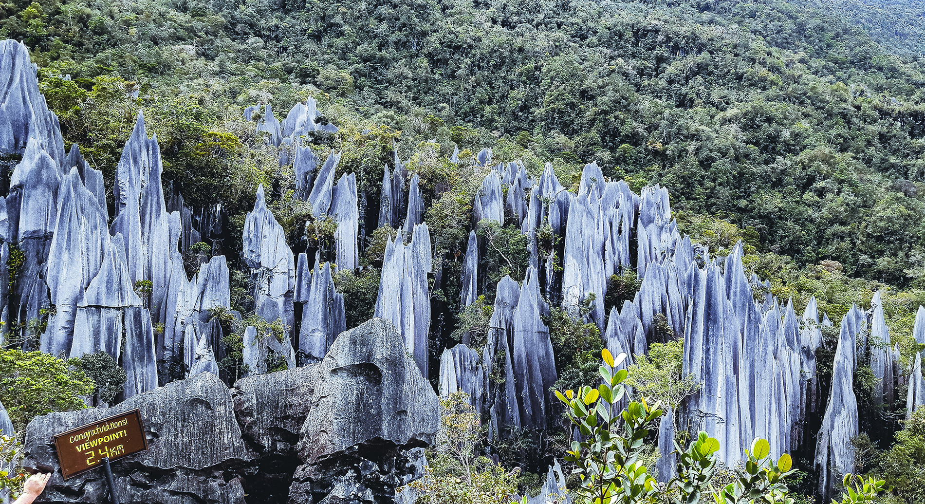
<path fill-rule="evenodd" d="M 381 318 L 342 333 L 318 371 L 299 442 L 305 464 L 293 476 L 290 502 L 393 499 L 401 451 L 424 447 L 437 433 L 437 395 Z"/>

